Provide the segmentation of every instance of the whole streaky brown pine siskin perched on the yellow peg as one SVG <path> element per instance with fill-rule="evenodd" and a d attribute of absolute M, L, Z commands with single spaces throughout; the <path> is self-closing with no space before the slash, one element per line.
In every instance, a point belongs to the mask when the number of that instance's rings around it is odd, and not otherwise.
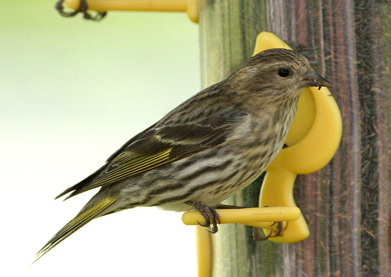
<path fill-rule="evenodd" d="M 195 208 L 217 232 L 219 203 L 256 178 L 281 150 L 305 87 L 331 86 L 300 53 L 263 51 L 227 79 L 136 135 L 106 164 L 56 198 L 101 187 L 37 259 L 90 220 L 136 206 Z M 65 198 L 65 199 L 67 199 Z"/>

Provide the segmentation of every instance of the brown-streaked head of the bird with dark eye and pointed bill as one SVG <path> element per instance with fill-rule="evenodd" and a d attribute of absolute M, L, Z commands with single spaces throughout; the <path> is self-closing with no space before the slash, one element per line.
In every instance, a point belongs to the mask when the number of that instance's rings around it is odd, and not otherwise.
<path fill-rule="evenodd" d="M 332 87 L 299 52 L 275 48 L 258 53 L 228 79 L 239 93 L 260 99 L 297 99 L 305 87 Z"/>

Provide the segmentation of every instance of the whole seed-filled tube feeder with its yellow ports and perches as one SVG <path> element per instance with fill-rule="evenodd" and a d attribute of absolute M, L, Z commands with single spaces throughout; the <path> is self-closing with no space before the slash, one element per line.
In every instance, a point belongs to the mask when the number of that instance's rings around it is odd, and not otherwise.
<path fill-rule="evenodd" d="M 79 0 L 65 4 L 80 8 Z M 100 12 L 187 12 L 199 23 L 204 87 L 228 76 L 254 47 L 255 53 L 288 48 L 285 42 L 334 84 L 332 96 L 327 88 L 304 90 L 287 147 L 267 168 L 261 190 L 260 179 L 227 200 L 230 205 L 260 207 L 218 211 L 222 223 L 241 224 L 225 224 L 213 237 L 197 227 L 199 277 L 389 275 L 390 1 L 87 4 Z M 200 217 L 189 212 L 182 219 L 195 224 Z M 271 221 L 285 222 L 282 236 L 254 241 L 247 225 L 267 228 L 267 233 Z"/>

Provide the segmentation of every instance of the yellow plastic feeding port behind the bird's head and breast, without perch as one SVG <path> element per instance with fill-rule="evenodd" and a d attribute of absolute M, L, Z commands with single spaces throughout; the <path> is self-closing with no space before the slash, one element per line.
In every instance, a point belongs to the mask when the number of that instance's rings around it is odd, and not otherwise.
<path fill-rule="evenodd" d="M 257 37 L 254 54 L 270 48 L 291 49 L 276 35 L 262 32 Z M 308 174 L 324 167 L 334 156 L 341 141 L 342 119 L 337 103 L 326 87 L 303 90 L 298 109 L 279 155 L 266 169 L 260 206 L 295 207 L 293 184 L 297 174 Z M 265 233 L 269 231 L 264 230 Z M 289 222 L 281 237 L 269 238 L 287 243 L 309 236 L 303 218 Z"/>

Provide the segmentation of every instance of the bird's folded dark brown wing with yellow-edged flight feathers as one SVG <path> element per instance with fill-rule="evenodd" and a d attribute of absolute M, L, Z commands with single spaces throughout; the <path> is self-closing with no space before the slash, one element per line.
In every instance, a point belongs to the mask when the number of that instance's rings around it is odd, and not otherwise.
<path fill-rule="evenodd" d="M 232 122 L 243 115 L 238 109 L 230 109 L 201 121 L 152 125 L 130 139 L 103 167 L 57 198 L 72 192 L 70 198 L 217 146 L 226 139 Z"/>

